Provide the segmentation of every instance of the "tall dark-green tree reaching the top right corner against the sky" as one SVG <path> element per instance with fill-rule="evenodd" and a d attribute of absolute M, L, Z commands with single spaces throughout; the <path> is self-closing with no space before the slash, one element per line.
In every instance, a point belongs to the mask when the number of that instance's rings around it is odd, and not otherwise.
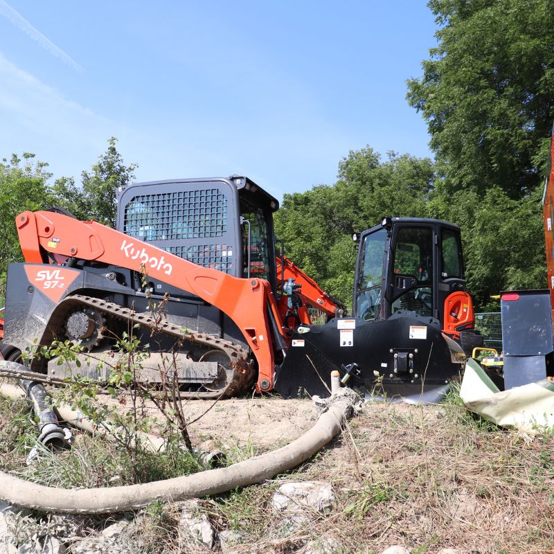
<path fill-rule="evenodd" d="M 431 0 L 438 45 L 408 81 L 450 193 L 524 197 L 542 179 L 554 115 L 550 0 Z"/>

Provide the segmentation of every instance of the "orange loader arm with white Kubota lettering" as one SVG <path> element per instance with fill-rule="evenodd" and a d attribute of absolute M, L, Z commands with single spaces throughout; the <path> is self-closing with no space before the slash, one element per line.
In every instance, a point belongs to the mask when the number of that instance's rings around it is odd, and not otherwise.
<path fill-rule="evenodd" d="M 24 212 L 15 218 L 21 251 L 27 262 L 42 263 L 42 251 L 140 271 L 168 285 L 192 292 L 225 312 L 238 325 L 258 361 L 258 388 L 263 379 L 274 382 L 274 345 L 268 303 L 282 323 L 269 283 L 236 278 L 217 269 L 196 265 L 157 247 L 110 229 L 98 222 L 80 222 L 60 213 Z M 283 334 L 283 339 L 287 339 Z"/>

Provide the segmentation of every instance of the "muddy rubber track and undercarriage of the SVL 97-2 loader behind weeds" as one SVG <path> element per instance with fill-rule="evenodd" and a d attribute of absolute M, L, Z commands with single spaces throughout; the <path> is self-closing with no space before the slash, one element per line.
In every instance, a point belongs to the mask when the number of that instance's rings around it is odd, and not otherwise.
<path fill-rule="evenodd" d="M 75 320 L 82 323 L 79 328 L 84 333 L 80 336 L 68 332 L 68 323 Z M 76 358 L 80 364 L 60 366 L 55 360 L 50 361 L 48 375 L 71 377 L 80 374 L 107 380 L 108 368 L 118 363 L 118 355 L 109 346 L 102 348 L 102 339 L 109 341 L 110 337 L 118 337 L 121 328 L 133 333 L 136 325 L 143 328 L 142 332 L 150 332 L 148 357 L 141 359 L 141 369 L 136 375 L 138 381 L 177 382 L 181 398 L 204 399 L 235 395 L 253 382 L 253 360 L 246 348 L 169 323 L 161 312 L 139 314 L 118 304 L 80 294 L 69 296 L 57 305 L 40 343 L 51 343 L 55 330 L 63 332 L 65 326 L 66 336 L 81 341 L 88 352 Z M 174 343 L 171 348 L 156 348 L 168 341 Z"/>

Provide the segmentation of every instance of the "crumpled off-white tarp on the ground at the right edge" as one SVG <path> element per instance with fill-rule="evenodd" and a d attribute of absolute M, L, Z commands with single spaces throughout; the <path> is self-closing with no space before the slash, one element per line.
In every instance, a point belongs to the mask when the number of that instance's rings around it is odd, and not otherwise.
<path fill-rule="evenodd" d="M 502 427 L 527 432 L 554 427 L 554 382 L 548 379 L 499 391 L 483 368 L 470 358 L 460 396 L 468 409 Z"/>

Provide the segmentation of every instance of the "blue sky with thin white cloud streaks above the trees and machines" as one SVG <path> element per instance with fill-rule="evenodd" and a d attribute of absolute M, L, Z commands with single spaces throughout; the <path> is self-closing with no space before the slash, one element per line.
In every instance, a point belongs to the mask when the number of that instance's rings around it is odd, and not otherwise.
<path fill-rule="evenodd" d="M 370 145 L 429 156 L 404 99 L 423 1 L 0 0 L 0 158 L 77 178 L 117 136 L 139 181 L 248 175 L 281 198 Z"/>

